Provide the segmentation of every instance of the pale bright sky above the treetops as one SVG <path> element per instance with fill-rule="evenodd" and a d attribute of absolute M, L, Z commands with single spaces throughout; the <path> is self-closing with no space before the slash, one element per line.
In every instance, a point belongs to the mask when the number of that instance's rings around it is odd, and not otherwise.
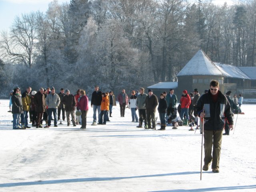
<path fill-rule="evenodd" d="M 0 0 L 0 31 L 10 29 L 15 16 L 20 16 L 22 13 L 30 13 L 31 11 L 40 10 L 46 12 L 48 4 L 52 0 Z M 190 0 L 197 2 L 197 0 Z M 227 2 L 231 5 L 234 0 L 212 0 L 216 4 L 224 4 Z M 70 2 L 70 0 L 58 0 L 62 2 Z"/>

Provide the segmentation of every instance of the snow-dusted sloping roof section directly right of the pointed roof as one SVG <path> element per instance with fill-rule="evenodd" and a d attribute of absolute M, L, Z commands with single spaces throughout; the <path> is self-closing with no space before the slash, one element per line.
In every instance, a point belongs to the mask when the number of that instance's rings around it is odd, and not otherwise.
<path fill-rule="evenodd" d="M 214 64 L 222 72 L 224 77 L 251 79 L 244 72 L 242 72 L 242 70 L 240 70 L 238 67 L 234 65 L 221 64 L 221 63 L 214 63 Z"/>

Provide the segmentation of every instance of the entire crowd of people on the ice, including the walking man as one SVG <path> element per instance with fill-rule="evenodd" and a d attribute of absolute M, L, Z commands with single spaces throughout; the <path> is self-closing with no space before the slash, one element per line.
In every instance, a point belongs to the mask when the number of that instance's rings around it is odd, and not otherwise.
<path fill-rule="evenodd" d="M 112 91 L 101 92 L 98 86 L 95 86 L 92 93 L 91 107 L 93 108 L 93 123 L 96 125 L 98 110 L 98 124 L 106 124 L 109 121 L 108 116 L 112 116 L 112 107 L 116 106 L 116 99 Z M 20 94 L 20 89 L 15 88 L 10 98 L 12 104 L 13 114 L 13 129 L 26 129 L 28 126 L 28 112 L 30 109 L 36 114 L 36 128 L 42 127 L 42 118 L 47 112 L 48 120 L 44 128 L 51 126 L 52 114 L 54 116 L 54 126 L 57 126 L 57 109 L 58 118 L 60 118 L 59 111 L 62 111 L 62 118 L 65 119 L 64 111 L 68 126 L 70 125 L 70 115 L 72 117 L 73 126 L 76 124 L 82 125 L 81 128 L 86 128 L 86 116 L 89 110 L 89 101 L 85 90 L 78 90 L 76 95 L 70 94 L 69 90 L 61 89 L 60 94 L 55 93 L 54 87 L 50 90 L 39 89 L 39 92 L 33 91 L 28 87 L 23 94 Z M 210 89 L 205 91 L 205 94 L 200 96 L 198 90 L 194 89 L 193 94 L 188 94 L 186 90 L 182 92 L 180 99 L 180 118 L 189 118 L 192 122 L 198 122 L 195 118 L 200 118 L 201 124 L 204 125 L 204 166 L 203 170 L 207 171 L 212 162 L 212 172 L 219 172 L 220 150 L 222 143 L 222 135 L 228 135 L 229 130 L 233 129 L 233 111 L 239 110 L 242 105 L 242 95 L 239 100 L 234 96 L 233 100 L 230 98 L 231 91 L 226 92 L 226 96 L 219 90 L 219 82 L 212 80 L 210 82 Z M 177 96 L 174 90 L 170 89 L 169 93 L 160 94 L 158 98 L 153 94 L 152 90 L 148 90 L 148 95 L 144 93 L 144 88 L 136 94 L 131 92 L 131 96 L 125 93 L 125 90 L 117 97 L 120 104 L 120 116 L 124 117 L 126 106 L 132 112 L 132 122 L 138 122 L 138 128 L 142 128 L 144 122 L 145 129 L 156 128 L 156 107 L 161 121 L 161 128 L 165 130 L 166 115 L 173 118 L 176 115 Z M 62 104 L 62 105 L 61 105 Z M 238 106 L 238 105 L 239 106 Z M 63 110 L 65 108 L 65 110 Z M 76 114 L 75 114 L 76 110 Z M 138 116 L 136 114 L 138 110 Z M 179 111 L 179 109 L 178 109 Z M 79 113 L 80 112 L 80 113 Z M 75 119 L 75 115 L 77 115 Z M 21 117 L 21 124 L 20 124 Z M 225 126 L 225 134 L 223 128 Z M 175 127 L 175 126 L 174 126 Z M 202 132 L 202 130 L 201 130 Z M 212 147 L 213 146 L 213 147 Z"/>

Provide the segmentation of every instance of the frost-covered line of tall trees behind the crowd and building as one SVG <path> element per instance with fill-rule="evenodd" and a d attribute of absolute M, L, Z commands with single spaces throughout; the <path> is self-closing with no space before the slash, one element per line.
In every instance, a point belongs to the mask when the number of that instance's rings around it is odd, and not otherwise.
<path fill-rule="evenodd" d="M 256 0 L 54 0 L 1 32 L 0 88 L 132 90 L 176 81 L 200 48 L 214 62 L 255 66 L 255 42 Z"/>

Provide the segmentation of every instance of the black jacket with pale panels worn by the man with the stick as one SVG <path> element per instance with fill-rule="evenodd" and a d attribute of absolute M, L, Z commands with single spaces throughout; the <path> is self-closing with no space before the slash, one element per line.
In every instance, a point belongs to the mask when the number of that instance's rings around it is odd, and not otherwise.
<path fill-rule="evenodd" d="M 225 118 L 227 118 L 229 125 L 233 124 L 230 104 L 220 90 L 218 90 L 217 102 L 213 102 L 210 90 L 199 98 L 196 104 L 196 110 L 199 112 L 198 116 L 200 116 L 203 107 L 205 113 L 205 130 L 222 130 L 224 128 Z"/>

